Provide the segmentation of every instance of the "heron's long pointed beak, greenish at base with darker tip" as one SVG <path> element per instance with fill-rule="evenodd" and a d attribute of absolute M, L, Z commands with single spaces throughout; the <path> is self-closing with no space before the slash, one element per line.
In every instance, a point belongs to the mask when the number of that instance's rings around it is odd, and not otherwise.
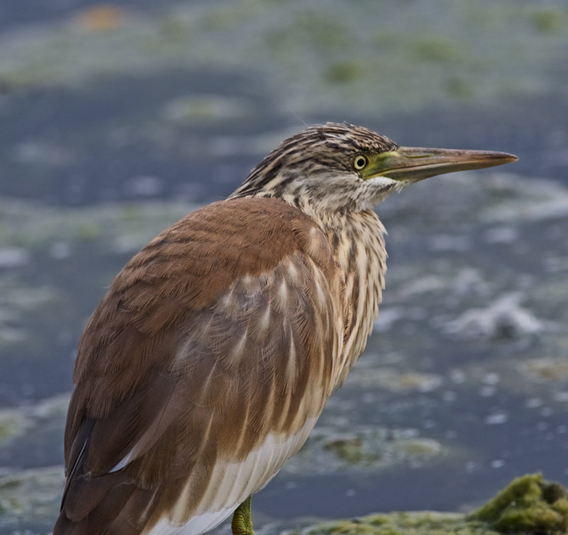
<path fill-rule="evenodd" d="M 399 147 L 396 151 L 379 154 L 368 171 L 372 176 L 417 182 L 443 173 L 501 166 L 517 160 L 517 156 L 506 152 Z"/>

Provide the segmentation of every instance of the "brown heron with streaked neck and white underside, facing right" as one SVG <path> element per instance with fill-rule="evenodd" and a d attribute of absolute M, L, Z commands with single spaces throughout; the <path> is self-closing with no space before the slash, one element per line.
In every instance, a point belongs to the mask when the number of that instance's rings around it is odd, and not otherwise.
<path fill-rule="evenodd" d="M 124 266 L 79 342 L 54 535 L 252 535 L 251 495 L 364 351 L 385 288 L 373 210 L 509 153 L 308 126 Z"/>

